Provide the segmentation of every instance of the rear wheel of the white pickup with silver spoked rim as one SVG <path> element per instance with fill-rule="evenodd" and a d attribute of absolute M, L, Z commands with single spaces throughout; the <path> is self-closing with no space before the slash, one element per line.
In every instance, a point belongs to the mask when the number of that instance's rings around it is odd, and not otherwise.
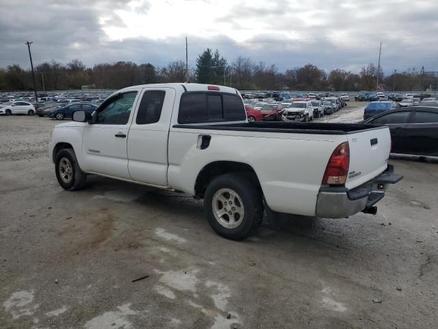
<path fill-rule="evenodd" d="M 231 204 L 224 206 L 225 202 Z M 241 241 L 259 227 L 263 219 L 263 197 L 259 188 L 244 176 L 237 173 L 220 175 L 207 186 L 204 210 L 216 233 L 226 239 Z"/>

